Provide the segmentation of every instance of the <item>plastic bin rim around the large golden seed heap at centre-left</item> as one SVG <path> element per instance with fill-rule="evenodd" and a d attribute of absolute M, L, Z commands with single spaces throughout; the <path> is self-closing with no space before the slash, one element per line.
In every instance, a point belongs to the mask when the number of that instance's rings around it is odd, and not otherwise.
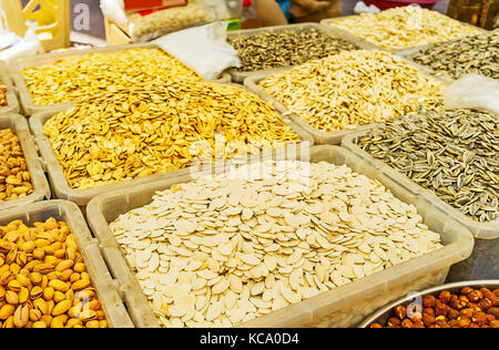
<path fill-rule="evenodd" d="M 242 86 L 238 86 L 242 87 Z M 40 153 L 43 158 L 43 164 L 45 169 L 49 173 L 50 183 L 52 185 L 52 193 L 59 199 L 67 199 L 70 202 L 74 202 L 80 206 L 85 206 L 90 199 L 102 194 L 103 192 L 120 189 L 123 187 L 138 186 L 146 183 L 154 182 L 156 179 L 165 178 L 165 177 L 179 177 L 191 172 L 191 167 L 176 169 L 165 173 L 159 173 L 151 176 L 145 176 L 142 178 L 135 178 L 132 181 L 120 182 L 112 185 L 98 186 L 89 189 L 74 189 L 71 188 L 68 184 L 68 181 L 64 176 L 64 172 L 59 163 L 59 159 L 55 153 L 52 150 L 49 137 L 43 133 L 43 124 L 54 114 L 64 111 L 65 107 L 52 109 L 50 111 L 40 112 L 31 116 L 30 126 L 34 134 L 35 142 L 40 148 Z M 302 127 L 293 123 L 286 117 L 283 117 L 283 121 L 289 125 L 293 131 L 299 136 L 302 142 L 313 144 L 313 137 Z"/>

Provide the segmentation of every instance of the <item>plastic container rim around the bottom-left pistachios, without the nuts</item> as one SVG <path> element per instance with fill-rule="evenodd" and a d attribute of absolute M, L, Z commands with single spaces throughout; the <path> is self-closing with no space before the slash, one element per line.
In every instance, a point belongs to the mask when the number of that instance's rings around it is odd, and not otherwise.
<path fill-rule="evenodd" d="M 116 282 L 105 266 L 99 250 L 99 243 L 92 238 L 89 227 L 77 205 L 64 200 L 49 200 L 26 205 L 18 209 L 0 213 L 0 226 L 12 220 L 21 219 L 24 225 L 35 222 L 44 222 L 54 217 L 58 222 L 64 222 L 71 228 L 77 238 L 80 253 L 86 265 L 92 286 L 96 290 L 99 301 L 105 312 L 110 327 L 133 328 L 130 316 L 119 295 Z"/>

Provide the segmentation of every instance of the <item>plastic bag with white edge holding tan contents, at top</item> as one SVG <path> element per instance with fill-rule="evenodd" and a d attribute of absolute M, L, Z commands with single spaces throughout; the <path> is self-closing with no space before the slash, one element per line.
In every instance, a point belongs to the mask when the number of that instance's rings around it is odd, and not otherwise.
<path fill-rule="evenodd" d="M 134 42 L 154 40 L 167 33 L 213 20 L 203 7 L 190 2 L 185 7 L 126 13 L 123 0 L 101 0 L 104 16 L 120 27 Z"/>

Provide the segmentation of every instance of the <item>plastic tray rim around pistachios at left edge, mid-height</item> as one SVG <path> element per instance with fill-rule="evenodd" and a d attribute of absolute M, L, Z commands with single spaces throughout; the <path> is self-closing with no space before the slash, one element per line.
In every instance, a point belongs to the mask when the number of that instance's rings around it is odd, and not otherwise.
<path fill-rule="evenodd" d="M 0 130 L 11 128 L 12 132 L 19 136 L 22 153 L 24 155 L 28 171 L 31 174 L 31 184 L 33 185 L 33 193 L 18 199 L 0 202 L 0 212 L 12 207 L 23 207 L 29 203 L 41 202 L 50 198 L 50 186 L 38 156 L 37 146 L 33 136 L 30 134 L 30 128 L 26 117 L 19 114 L 1 114 Z"/>

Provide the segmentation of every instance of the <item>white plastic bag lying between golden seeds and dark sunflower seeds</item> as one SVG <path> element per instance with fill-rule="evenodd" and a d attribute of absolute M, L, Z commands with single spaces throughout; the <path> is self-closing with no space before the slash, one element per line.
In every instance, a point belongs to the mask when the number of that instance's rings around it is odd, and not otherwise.
<path fill-rule="evenodd" d="M 214 80 L 230 66 L 241 66 L 235 49 L 227 43 L 227 24 L 215 22 L 175 32 L 154 41 L 205 80 Z"/>

